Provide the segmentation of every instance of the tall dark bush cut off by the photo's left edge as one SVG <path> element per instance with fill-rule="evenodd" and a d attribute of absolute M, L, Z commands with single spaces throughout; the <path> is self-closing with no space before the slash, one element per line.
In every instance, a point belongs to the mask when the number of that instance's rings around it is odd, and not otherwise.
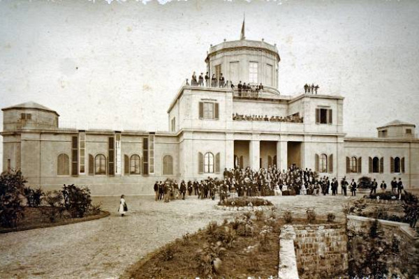
<path fill-rule="evenodd" d="M 23 218 L 22 197 L 27 181 L 20 171 L 3 172 L 0 175 L 0 225 L 17 227 Z"/>

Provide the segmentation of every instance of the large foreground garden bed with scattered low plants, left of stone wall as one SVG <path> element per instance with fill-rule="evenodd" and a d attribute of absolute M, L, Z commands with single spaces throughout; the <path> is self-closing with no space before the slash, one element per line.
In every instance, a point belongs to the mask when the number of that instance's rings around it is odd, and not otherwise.
<path fill-rule="evenodd" d="M 292 222 L 307 223 L 306 219 Z M 149 253 L 121 278 L 276 278 L 284 224 L 273 211 L 247 212 L 221 225 L 210 223 L 196 234 L 186 234 Z"/>

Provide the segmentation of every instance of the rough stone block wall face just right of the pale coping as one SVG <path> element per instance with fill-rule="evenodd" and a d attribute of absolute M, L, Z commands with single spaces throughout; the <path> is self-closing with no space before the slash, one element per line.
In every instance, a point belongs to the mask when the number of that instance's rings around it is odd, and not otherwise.
<path fill-rule="evenodd" d="M 346 278 L 347 236 L 344 224 L 294 225 L 300 278 Z"/>

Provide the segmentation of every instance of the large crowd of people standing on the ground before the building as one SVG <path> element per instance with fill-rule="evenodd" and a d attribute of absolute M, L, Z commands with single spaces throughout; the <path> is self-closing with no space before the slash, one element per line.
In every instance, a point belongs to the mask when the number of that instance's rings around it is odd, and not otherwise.
<path fill-rule="evenodd" d="M 371 193 L 375 193 L 378 183 L 375 179 L 371 183 Z M 341 195 L 355 196 L 357 183 L 354 179 L 351 182 L 346 177 L 341 179 Z M 403 183 L 391 182 L 392 191 L 401 193 Z M 311 169 L 301 169 L 291 165 L 288 169 L 277 169 L 276 165 L 261 168 L 253 171 L 250 167 L 246 169 L 224 169 L 223 179 L 208 177 L 200 181 L 180 181 L 166 179 L 156 181 L 154 193 L 156 201 L 170 199 L 185 199 L 186 195 L 196 195 L 198 199 L 226 199 L 227 197 L 241 196 L 267 196 L 267 195 L 337 195 L 339 182 L 336 178 L 329 179 L 328 176 L 319 176 Z M 381 190 L 385 190 L 386 184 L 381 183 Z"/>

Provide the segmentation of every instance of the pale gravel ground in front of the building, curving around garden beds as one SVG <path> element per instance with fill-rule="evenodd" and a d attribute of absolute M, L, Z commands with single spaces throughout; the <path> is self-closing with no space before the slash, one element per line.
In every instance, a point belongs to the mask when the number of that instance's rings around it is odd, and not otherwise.
<path fill-rule="evenodd" d="M 351 197 L 266 197 L 281 213 L 304 217 L 307 207 L 318 215 L 333 212 L 344 218 L 342 204 Z M 357 197 L 358 198 L 358 197 Z M 94 197 L 110 211 L 107 218 L 24 232 L 0 234 L 0 278 L 117 278 L 131 264 L 186 232 L 196 232 L 210 220 L 233 216 L 214 208 L 216 202 L 196 196 L 170 203 L 154 196 L 126 197 L 129 213 L 116 211 L 119 197 Z"/>

